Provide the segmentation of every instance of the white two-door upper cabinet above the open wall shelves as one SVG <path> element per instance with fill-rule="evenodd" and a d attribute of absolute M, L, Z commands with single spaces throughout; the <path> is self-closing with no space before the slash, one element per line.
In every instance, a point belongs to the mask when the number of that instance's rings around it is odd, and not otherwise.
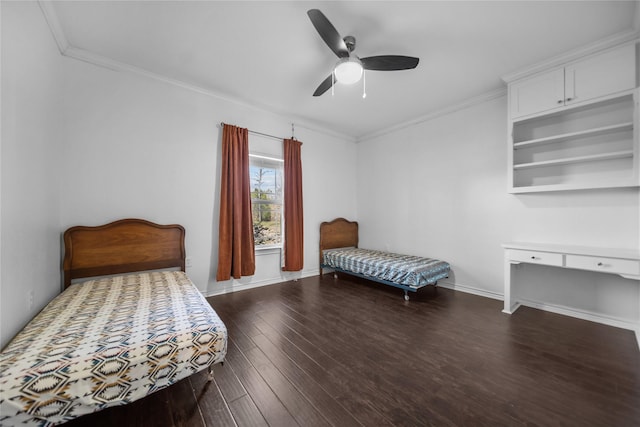
<path fill-rule="evenodd" d="M 635 45 L 628 44 L 509 85 L 511 118 L 562 109 L 636 86 Z"/>

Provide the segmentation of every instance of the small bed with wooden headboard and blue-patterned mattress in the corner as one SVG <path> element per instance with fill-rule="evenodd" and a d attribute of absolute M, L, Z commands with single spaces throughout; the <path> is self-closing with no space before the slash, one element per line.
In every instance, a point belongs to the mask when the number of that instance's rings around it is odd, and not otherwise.
<path fill-rule="evenodd" d="M 358 247 L 358 223 L 344 218 L 320 224 L 320 278 L 323 269 L 363 277 L 409 292 L 449 276 L 445 261 Z M 334 273 L 335 274 L 335 273 Z"/>

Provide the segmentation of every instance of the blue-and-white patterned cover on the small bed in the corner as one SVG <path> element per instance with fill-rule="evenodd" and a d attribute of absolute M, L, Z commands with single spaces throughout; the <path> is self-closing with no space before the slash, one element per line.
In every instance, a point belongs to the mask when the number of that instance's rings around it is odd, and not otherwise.
<path fill-rule="evenodd" d="M 323 264 L 377 280 L 420 288 L 449 275 L 444 261 L 360 248 L 325 249 Z"/>

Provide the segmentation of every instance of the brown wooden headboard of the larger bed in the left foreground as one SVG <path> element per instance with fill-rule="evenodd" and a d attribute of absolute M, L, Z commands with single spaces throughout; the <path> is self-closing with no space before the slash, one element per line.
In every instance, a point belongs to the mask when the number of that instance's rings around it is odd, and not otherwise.
<path fill-rule="evenodd" d="M 64 232 L 64 288 L 71 280 L 179 267 L 185 271 L 184 227 L 122 219 Z"/>

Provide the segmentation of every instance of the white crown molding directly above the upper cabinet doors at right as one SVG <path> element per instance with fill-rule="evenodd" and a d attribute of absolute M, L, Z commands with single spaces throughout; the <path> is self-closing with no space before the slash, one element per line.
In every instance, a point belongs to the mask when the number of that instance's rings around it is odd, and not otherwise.
<path fill-rule="evenodd" d="M 604 39 L 600 39 L 593 43 L 579 47 L 577 49 L 564 52 L 560 55 L 556 55 L 547 59 L 546 61 L 538 62 L 535 65 L 526 67 L 521 70 L 514 71 L 503 75 L 501 78 L 505 83 L 511 83 L 514 80 L 519 80 L 523 77 L 528 77 L 532 74 L 544 71 L 550 68 L 556 68 L 571 61 L 575 61 L 579 58 L 583 58 L 588 55 L 600 52 L 612 48 L 614 46 L 622 45 L 625 43 L 637 43 L 640 40 L 640 30 L 634 28 L 628 31 L 614 34 Z"/>

